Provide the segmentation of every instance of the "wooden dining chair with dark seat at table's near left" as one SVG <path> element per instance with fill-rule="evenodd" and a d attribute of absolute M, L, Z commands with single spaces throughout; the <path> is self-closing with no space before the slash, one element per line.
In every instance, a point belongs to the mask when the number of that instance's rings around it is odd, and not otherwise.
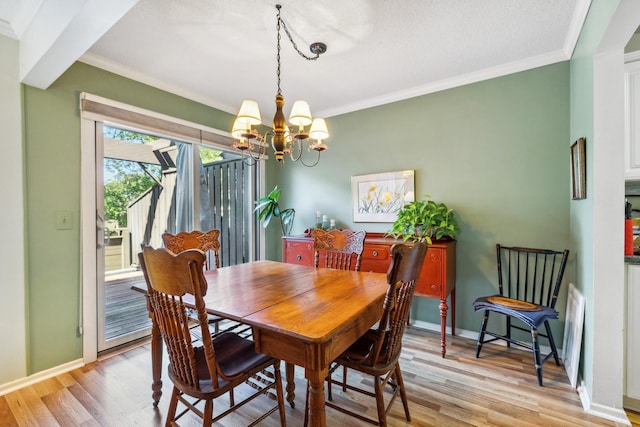
<path fill-rule="evenodd" d="M 187 250 L 175 255 L 165 248 L 145 247 L 140 260 L 147 281 L 149 312 L 157 322 L 169 355 L 168 375 L 173 393 L 165 425 L 177 425 L 180 417 L 192 411 L 202 418 L 203 426 L 211 426 L 254 398 L 268 395 L 277 400 L 277 404 L 269 405 L 271 407 L 249 425 L 256 425 L 279 411 L 280 425 L 286 426 L 280 361 L 256 353 L 253 341 L 237 334 L 226 332 L 212 338 L 209 333 L 203 296 L 215 290 L 207 289 L 203 276 L 204 254 Z M 185 304 L 189 298 L 197 311 L 201 347 L 191 340 Z M 214 400 L 239 386 L 244 388 L 242 401 L 236 404 L 230 393 L 230 408 L 214 416 Z M 180 404 L 186 409 L 176 415 Z"/>

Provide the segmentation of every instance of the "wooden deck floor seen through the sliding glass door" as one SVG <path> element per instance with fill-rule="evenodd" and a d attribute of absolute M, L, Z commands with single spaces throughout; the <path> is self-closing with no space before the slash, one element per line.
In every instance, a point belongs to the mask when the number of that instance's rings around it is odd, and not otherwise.
<path fill-rule="evenodd" d="M 142 271 L 109 274 L 105 277 L 105 337 L 107 340 L 150 328 L 147 300 L 131 286 L 145 287 Z"/>

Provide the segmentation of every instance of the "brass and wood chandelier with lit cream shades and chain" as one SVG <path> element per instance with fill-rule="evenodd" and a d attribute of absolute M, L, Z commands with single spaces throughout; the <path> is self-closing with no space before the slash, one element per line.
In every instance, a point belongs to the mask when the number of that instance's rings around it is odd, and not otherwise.
<path fill-rule="evenodd" d="M 311 109 L 306 101 L 296 101 L 291 108 L 291 114 L 289 115 L 289 123 L 292 125 L 293 132 L 286 124 L 282 107 L 284 106 L 284 96 L 280 89 L 280 27 L 284 28 L 291 45 L 296 52 L 308 61 L 318 59 L 321 54 L 327 51 L 327 45 L 324 43 L 312 43 L 309 46 L 311 53 L 314 56 L 307 56 L 298 49 L 298 46 L 293 41 L 291 33 L 287 28 L 287 25 L 280 17 L 281 5 L 277 4 L 277 55 L 276 60 L 278 68 L 276 75 L 278 77 L 278 92 L 276 93 L 276 114 L 273 117 L 273 129 L 266 132 L 264 135 L 260 134 L 253 126 L 260 125 L 262 118 L 260 116 L 260 109 L 258 103 L 252 99 L 245 99 L 242 101 L 240 110 L 236 119 L 233 122 L 231 129 L 231 136 L 234 138 L 233 148 L 239 150 L 242 153 L 243 160 L 248 164 L 255 164 L 258 160 L 262 159 L 267 153 L 267 146 L 269 141 L 273 151 L 275 152 L 276 159 L 280 164 L 284 165 L 284 156 L 288 155 L 292 161 L 296 162 L 300 160 L 305 166 L 313 167 L 320 161 L 320 153 L 327 149 L 327 145 L 322 141 L 329 137 L 327 130 L 327 124 L 324 119 L 312 118 Z M 309 127 L 309 131 L 306 128 Z M 315 162 L 306 163 L 302 158 L 304 146 L 307 147 L 309 152 L 316 151 L 318 153 Z M 246 155 L 246 156 L 245 156 Z"/>

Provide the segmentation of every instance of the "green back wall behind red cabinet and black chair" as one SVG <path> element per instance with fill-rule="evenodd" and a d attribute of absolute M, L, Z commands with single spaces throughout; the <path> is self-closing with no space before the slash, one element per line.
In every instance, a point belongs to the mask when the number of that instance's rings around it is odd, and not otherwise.
<path fill-rule="evenodd" d="M 294 232 L 311 226 L 316 210 L 339 227 L 387 231 L 390 224 L 352 222 L 351 176 L 414 169 L 416 196 L 447 203 L 460 220 L 458 328 L 476 331 L 473 300 L 497 290 L 496 243 L 568 247 L 568 62 L 331 117 L 328 124 L 320 164 L 288 163 L 282 170 L 283 205 L 297 212 Z M 566 288 L 561 313 L 565 295 Z M 413 315 L 439 323 L 438 302 L 417 298 Z M 554 334 L 561 345 L 562 322 Z"/>

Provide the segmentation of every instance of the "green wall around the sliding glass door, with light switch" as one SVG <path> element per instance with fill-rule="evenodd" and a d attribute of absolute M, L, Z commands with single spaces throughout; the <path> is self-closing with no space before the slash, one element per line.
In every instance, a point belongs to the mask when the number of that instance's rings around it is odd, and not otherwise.
<path fill-rule="evenodd" d="M 89 92 L 218 129 L 230 114 L 76 63 L 47 90 L 24 88 L 29 373 L 82 357 L 79 95 Z M 56 230 L 57 211 L 73 213 Z"/>

